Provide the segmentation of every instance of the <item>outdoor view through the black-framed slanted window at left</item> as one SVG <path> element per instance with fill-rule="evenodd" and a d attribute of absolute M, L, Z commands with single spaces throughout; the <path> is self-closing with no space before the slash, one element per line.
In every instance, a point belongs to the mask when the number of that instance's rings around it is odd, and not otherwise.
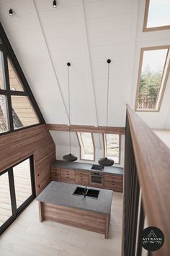
<path fill-rule="evenodd" d="M 0 51 L 0 133 L 39 123 L 32 103 L 27 97 L 27 93 L 24 92 L 22 82 L 9 58 L 7 58 L 7 64 L 6 72 L 9 75 L 6 78 L 4 54 Z M 11 114 L 9 114 L 10 109 Z M 12 119 L 13 127 L 11 127 L 12 122 L 9 122 L 9 119 Z"/>

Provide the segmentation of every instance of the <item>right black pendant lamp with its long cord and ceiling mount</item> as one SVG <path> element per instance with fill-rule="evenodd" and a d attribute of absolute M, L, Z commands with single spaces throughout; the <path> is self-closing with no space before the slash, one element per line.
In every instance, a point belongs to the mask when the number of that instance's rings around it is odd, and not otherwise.
<path fill-rule="evenodd" d="M 107 124 L 108 124 L 108 105 L 109 105 L 109 64 L 111 60 L 107 59 L 108 63 L 108 72 L 107 72 Z M 106 128 L 106 147 L 107 147 L 107 128 Z M 99 165 L 101 166 L 112 166 L 114 164 L 114 161 L 110 158 L 99 158 L 98 161 Z"/>

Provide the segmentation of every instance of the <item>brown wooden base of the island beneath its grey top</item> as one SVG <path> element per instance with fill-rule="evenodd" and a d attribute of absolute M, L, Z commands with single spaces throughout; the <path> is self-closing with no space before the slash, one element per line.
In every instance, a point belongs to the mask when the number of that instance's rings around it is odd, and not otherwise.
<path fill-rule="evenodd" d="M 39 201 L 40 221 L 56 221 L 68 226 L 104 234 L 108 238 L 109 214 L 94 213 L 90 210 L 79 210 L 48 202 Z"/>

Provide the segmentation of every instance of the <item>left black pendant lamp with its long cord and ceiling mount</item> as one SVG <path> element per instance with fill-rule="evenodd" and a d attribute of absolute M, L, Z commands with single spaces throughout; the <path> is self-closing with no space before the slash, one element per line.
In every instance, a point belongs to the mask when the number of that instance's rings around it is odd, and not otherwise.
<path fill-rule="evenodd" d="M 69 67 L 71 66 L 70 62 L 67 63 L 68 66 L 68 121 L 69 121 L 69 145 L 70 145 L 70 153 L 68 155 L 63 156 L 63 160 L 66 162 L 74 162 L 77 160 L 75 155 L 71 154 L 71 111 L 70 111 L 70 72 Z"/>

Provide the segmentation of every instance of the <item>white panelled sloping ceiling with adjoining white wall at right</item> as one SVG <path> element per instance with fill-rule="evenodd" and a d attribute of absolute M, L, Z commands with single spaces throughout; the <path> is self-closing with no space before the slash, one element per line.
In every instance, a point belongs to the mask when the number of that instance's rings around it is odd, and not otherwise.
<path fill-rule="evenodd" d="M 107 59 L 109 126 L 125 127 L 134 108 L 140 48 L 170 44 L 169 30 L 143 33 L 144 0 L 0 0 L 0 20 L 45 121 L 105 125 Z M 14 17 L 9 17 L 9 9 Z M 170 128 L 170 80 L 158 113 L 140 113 L 153 128 Z M 159 121 L 158 121 L 159 120 Z"/>

